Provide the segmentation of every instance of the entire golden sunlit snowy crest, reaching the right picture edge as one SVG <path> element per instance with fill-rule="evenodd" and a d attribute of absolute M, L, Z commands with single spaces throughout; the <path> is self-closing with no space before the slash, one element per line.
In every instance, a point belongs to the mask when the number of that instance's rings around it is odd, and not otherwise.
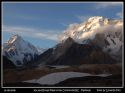
<path fill-rule="evenodd" d="M 64 31 L 64 34 L 60 36 L 60 40 L 65 40 L 68 37 L 73 38 L 77 42 L 81 39 L 82 41 L 87 38 L 93 39 L 95 34 L 102 30 L 104 31 L 105 29 L 110 28 L 118 29 L 120 26 L 123 26 L 122 20 L 113 20 L 101 16 L 94 16 L 81 24 L 71 24 L 69 28 Z"/>

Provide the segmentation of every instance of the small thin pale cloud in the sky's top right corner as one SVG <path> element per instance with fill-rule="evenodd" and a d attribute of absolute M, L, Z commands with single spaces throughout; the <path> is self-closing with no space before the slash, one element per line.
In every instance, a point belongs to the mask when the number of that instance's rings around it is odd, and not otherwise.
<path fill-rule="evenodd" d="M 122 2 L 103 2 L 103 3 L 97 3 L 95 8 L 109 8 L 109 7 L 116 7 L 116 6 L 122 6 Z"/>

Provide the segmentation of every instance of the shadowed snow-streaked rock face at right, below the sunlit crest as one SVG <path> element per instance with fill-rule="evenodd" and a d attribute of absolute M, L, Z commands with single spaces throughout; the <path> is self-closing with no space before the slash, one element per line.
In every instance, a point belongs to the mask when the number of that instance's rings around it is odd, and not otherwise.
<path fill-rule="evenodd" d="M 91 45 L 97 45 L 102 50 L 110 54 L 117 61 L 122 61 L 122 45 L 123 42 L 120 38 L 113 35 L 96 34 L 93 40 L 90 40 Z"/>

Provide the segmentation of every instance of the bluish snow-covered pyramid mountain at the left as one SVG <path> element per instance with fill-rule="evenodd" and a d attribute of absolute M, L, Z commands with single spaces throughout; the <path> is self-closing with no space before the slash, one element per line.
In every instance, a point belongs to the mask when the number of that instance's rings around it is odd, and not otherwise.
<path fill-rule="evenodd" d="M 2 53 L 16 66 L 22 66 L 25 62 L 35 59 L 38 55 L 37 49 L 19 35 L 12 36 L 3 44 Z"/>

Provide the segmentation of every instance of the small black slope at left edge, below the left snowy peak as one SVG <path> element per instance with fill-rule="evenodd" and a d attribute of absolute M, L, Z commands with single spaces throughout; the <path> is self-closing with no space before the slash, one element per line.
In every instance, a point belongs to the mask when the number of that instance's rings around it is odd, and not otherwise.
<path fill-rule="evenodd" d="M 15 65 L 6 56 L 3 56 L 3 69 L 15 68 Z"/>

